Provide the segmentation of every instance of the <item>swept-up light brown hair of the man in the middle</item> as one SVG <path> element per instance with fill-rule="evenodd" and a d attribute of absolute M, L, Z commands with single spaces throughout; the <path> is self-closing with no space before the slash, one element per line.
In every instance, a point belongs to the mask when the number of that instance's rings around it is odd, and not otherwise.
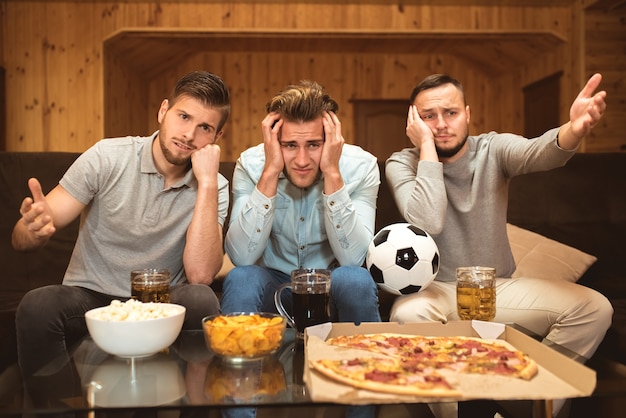
<path fill-rule="evenodd" d="M 339 105 L 320 84 L 303 80 L 287 86 L 267 102 L 265 109 L 268 113 L 280 113 L 290 122 L 309 122 L 320 117 L 324 110 L 337 113 Z"/>

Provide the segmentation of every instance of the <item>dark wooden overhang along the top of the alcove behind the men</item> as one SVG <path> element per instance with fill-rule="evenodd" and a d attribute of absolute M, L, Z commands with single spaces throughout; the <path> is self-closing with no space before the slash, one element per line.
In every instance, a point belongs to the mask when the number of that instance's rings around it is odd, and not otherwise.
<path fill-rule="evenodd" d="M 199 52 L 315 52 L 446 54 L 487 74 L 513 71 L 565 39 L 552 31 L 260 31 L 122 30 L 105 41 L 107 53 L 151 77 Z M 167 57 L 168 60 L 163 60 Z"/>

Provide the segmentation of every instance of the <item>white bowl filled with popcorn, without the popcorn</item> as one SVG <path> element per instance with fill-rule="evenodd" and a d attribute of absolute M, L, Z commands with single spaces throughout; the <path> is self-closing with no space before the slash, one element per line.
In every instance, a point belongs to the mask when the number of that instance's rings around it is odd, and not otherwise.
<path fill-rule="evenodd" d="M 91 338 L 100 349 L 119 357 L 147 357 L 169 347 L 180 334 L 185 307 L 172 303 L 158 304 L 167 312 L 163 318 L 141 320 L 102 319 L 103 306 L 85 313 Z"/>

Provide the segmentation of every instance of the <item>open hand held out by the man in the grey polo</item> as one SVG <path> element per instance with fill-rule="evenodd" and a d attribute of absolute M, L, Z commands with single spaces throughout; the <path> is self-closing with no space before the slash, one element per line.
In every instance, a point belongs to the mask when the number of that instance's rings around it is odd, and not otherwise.
<path fill-rule="evenodd" d="M 47 239 L 56 232 L 52 210 L 36 178 L 28 180 L 28 188 L 33 197 L 25 198 L 20 207 L 24 225 L 37 238 Z"/>

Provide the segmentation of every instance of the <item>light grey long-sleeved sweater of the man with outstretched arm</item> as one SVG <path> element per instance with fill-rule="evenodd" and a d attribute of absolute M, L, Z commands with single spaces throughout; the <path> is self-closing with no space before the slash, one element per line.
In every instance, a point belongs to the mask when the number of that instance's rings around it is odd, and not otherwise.
<path fill-rule="evenodd" d="M 436 280 L 455 280 L 456 267 L 490 266 L 510 277 L 515 261 L 506 233 L 508 186 L 513 176 L 561 167 L 575 150 L 557 145 L 559 129 L 527 139 L 489 132 L 468 138 L 453 163 L 419 161 L 419 149 L 389 157 L 385 174 L 400 213 L 426 230 L 439 247 Z"/>

